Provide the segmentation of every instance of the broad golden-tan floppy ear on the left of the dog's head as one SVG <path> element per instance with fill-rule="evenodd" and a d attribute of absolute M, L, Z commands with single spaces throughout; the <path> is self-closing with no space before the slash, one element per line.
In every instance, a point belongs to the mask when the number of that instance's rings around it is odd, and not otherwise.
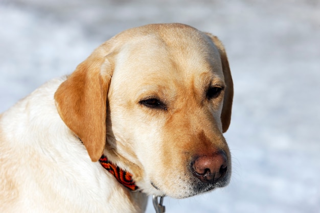
<path fill-rule="evenodd" d="M 97 161 L 106 143 L 106 102 L 112 66 L 95 51 L 79 64 L 55 93 L 61 119 L 84 144 L 92 161 Z"/>

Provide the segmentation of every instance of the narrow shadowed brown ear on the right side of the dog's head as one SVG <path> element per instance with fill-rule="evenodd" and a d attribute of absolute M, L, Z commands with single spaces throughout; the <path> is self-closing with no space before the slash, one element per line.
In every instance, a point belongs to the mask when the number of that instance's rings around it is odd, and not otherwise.
<path fill-rule="evenodd" d="M 231 71 L 229 67 L 229 62 L 226 56 L 226 52 L 224 50 L 224 46 L 221 41 L 214 35 L 210 33 L 206 33 L 213 43 L 217 46 L 221 58 L 224 83 L 226 84 L 224 90 L 224 98 L 223 98 L 223 107 L 221 112 L 221 123 L 222 123 L 222 132 L 226 132 L 229 128 L 231 121 L 231 111 L 232 111 L 232 101 L 233 101 L 233 81 L 231 76 Z"/>

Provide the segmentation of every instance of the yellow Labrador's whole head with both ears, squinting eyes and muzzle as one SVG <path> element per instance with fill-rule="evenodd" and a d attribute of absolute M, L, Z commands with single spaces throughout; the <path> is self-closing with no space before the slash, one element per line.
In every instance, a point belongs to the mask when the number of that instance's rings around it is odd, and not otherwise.
<path fill-rule="evenodd" d="M 145 193 L 175 198 L 228 183 L 231 157 L 222 133 L 232 99 L 221 42 L 181 24 L 118 34 L 55 93 L 62 120 L 93 161 L 104 152 Z"/>

